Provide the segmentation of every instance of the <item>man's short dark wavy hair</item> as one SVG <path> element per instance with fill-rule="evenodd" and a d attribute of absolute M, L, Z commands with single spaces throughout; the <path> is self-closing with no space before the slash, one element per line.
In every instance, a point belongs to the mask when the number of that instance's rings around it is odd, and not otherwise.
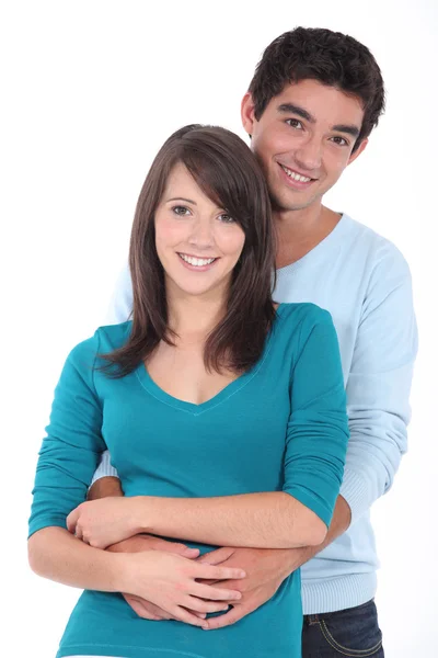
<path fill-rule="evenodd" d="M 384 111 L 384 87 L 380 68 L 370 50 L 341 32 L 321 27 L 297 27 L 269 44 L 258 63 L 250 89 L 258 121 L 269 101 L 287 83 L 318 80 L 357 97 L 364 121 L 355 149 L 377 126 Z M 354 149 L 354 150 L 355 150 Z"/>

